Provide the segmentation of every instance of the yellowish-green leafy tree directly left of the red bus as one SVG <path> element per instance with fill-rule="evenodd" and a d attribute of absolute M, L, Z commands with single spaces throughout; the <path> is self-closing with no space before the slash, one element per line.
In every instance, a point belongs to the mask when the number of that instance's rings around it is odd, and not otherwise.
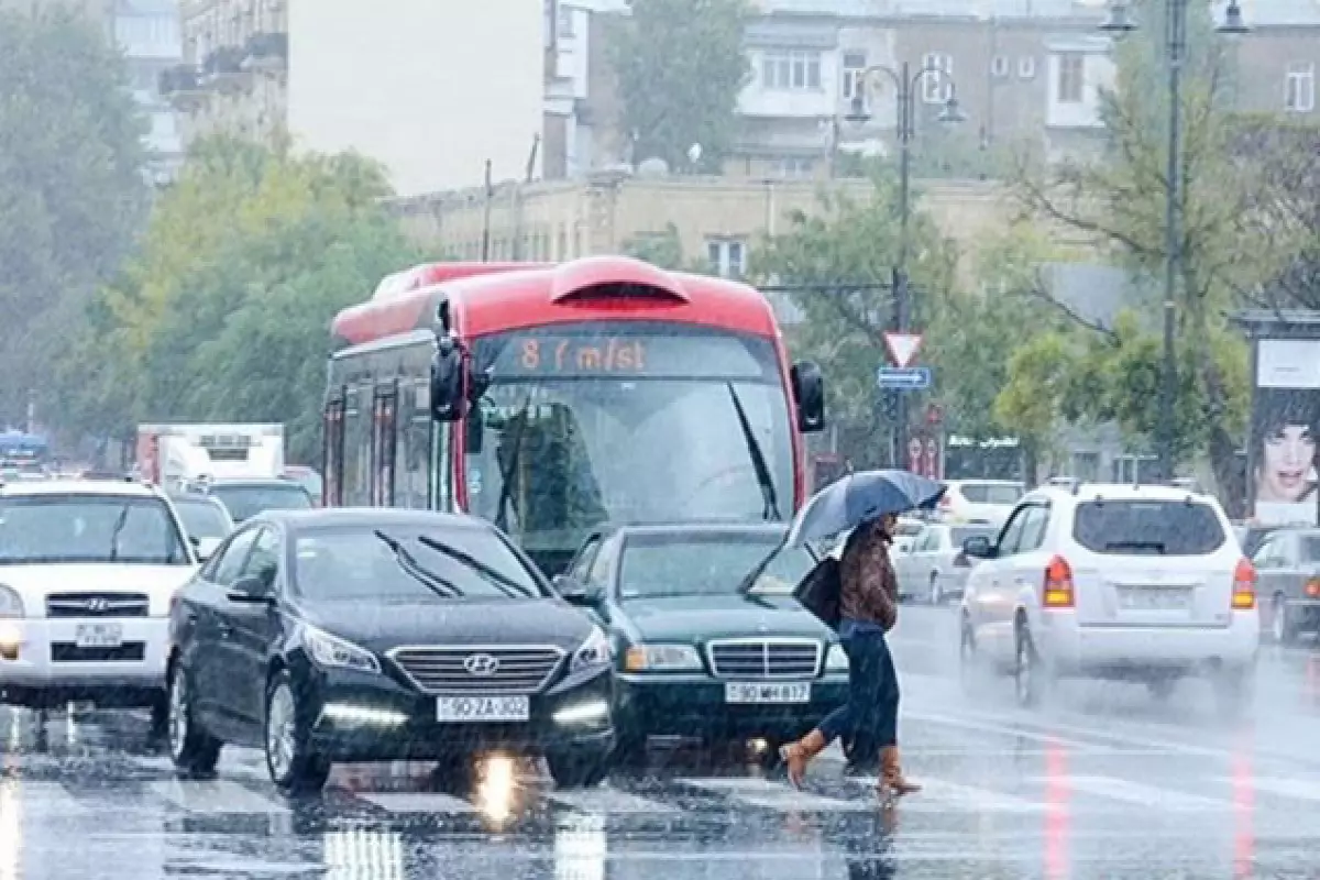
<path fill-rule="evenodd" d="M 88 309 L 70 361 L 81 424 L 285 422 L 290 460 L 315 460 L 330 319 L 418 259 L 385 191 L 354 156 L 202 145 L 140 259 Z"/>

